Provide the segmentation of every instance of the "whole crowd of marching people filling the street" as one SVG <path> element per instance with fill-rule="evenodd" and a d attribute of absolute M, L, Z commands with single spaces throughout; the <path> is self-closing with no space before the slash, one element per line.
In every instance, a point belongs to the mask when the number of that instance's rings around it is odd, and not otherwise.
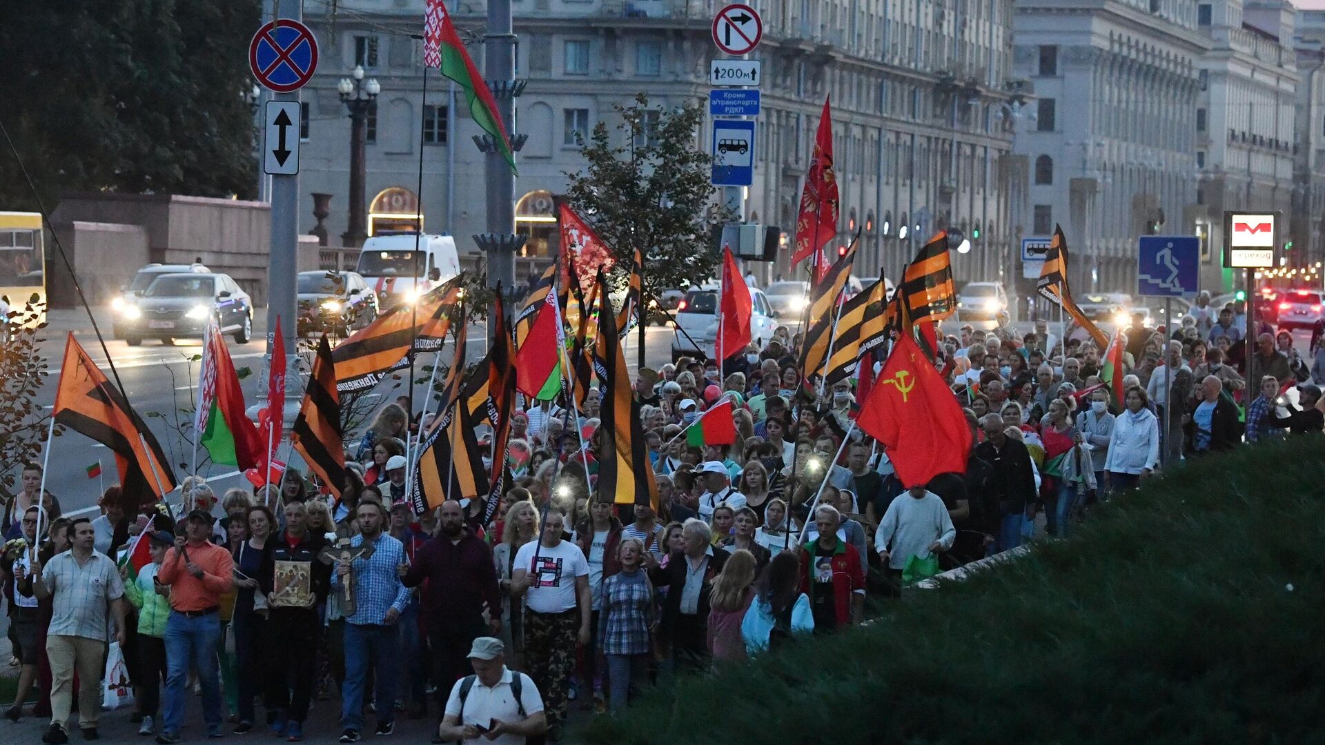
<path fill-rule="evenodd" d="M 20 667 L 5 716 L 50 717 L 42 740 L 66 742 L 77 676 L 78 728 L 95 738 L 115 643 L 131 717 L 163 745 L 191 729 L 195 688 L 207 737 L 265 726 L 295 742 L 310 707 L 338 697 L 341 742 L 429 711 L 436 742 L 558 741 L 572 707 L 616 711 L 660 677 L 859 624 L 867 595 L 1015 549 L 1041 514 L 1064 537 L 1166 464 L 1321 431 L 1320 329 L 1310 365 L 1273 329 L 1246 354 L 1243 309 L 1203 301 L 1181 327 L 1121 331 L 1121 390 L 1081 329 L 941 334 L 935 369 L 974 447 L 965 472 L 928 484 L 902 483 L 851 426 L 857 382 L 807 382 L 784 327 L 721 371 L 639 371 L 656 508 L 595 490 L 610 435 L 596 388 L 511 416 L 513 481 L 490 510 L 413 512 L 405 441 L 425 423 L 408 400 L 348 448 L 339 498 L 290 467 L 219 500 L 196 476 L 170 504 L 114 487 L 99 517 L 68 520 L 26 465 L 0 525 Z M 726 400 L 735 437 L 696 444 L 692 426 Z"/>

